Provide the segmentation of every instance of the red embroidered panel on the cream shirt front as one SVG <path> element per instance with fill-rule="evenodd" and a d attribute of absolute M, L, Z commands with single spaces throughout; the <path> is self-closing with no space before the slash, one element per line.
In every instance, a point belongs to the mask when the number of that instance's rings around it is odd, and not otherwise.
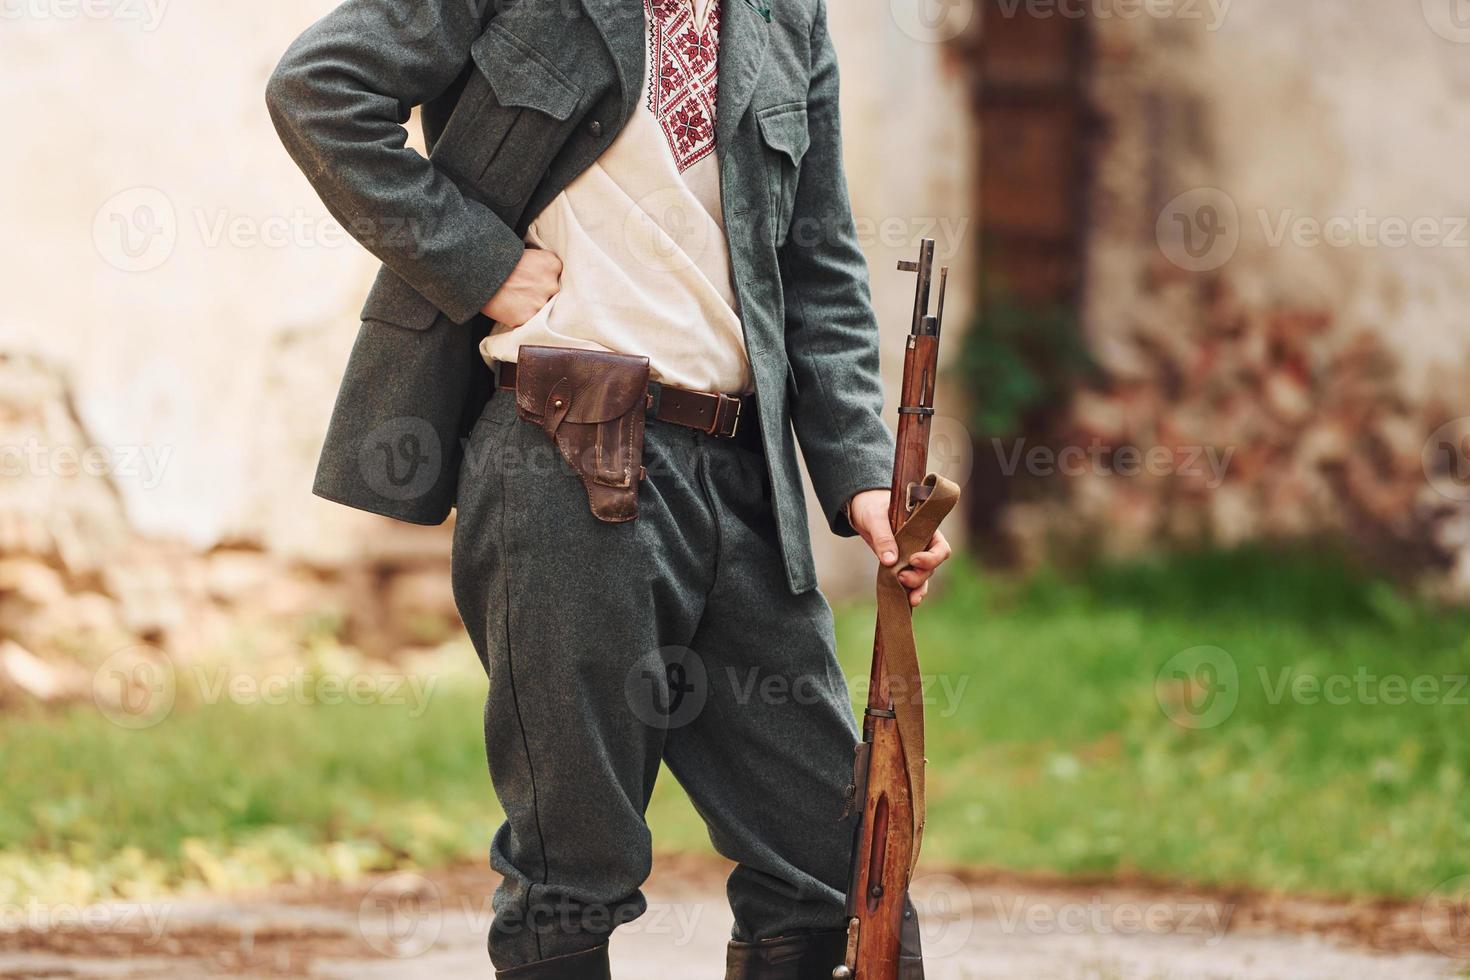
<path fill-rule="evenodd" d="M 720 0 L 701 31 L 692 0 L 644 0 L 648 15 L 648 112 L 659 120 L 679 172 L 714 151 Z"/>

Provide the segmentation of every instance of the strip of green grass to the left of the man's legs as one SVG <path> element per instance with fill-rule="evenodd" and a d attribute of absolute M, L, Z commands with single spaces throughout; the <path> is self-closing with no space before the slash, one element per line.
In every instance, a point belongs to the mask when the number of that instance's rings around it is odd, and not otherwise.
<path fill-rule="evenodd" d="M 181 704 L 119 729 L 100 713 L 0 726 L 0 901 L 134 893 L 437 864 L 482 852 L 497 810 L 479 696 L 400 705 Z M 21 887 L 28 884 L 29 887 Z"/>

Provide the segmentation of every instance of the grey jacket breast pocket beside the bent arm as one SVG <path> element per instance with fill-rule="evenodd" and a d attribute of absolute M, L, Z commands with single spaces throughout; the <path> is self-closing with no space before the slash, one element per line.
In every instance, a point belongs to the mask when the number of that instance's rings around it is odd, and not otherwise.
<path fill-rule="evenodd" d="M 582 90 L 545 54 L 492 22 L 434 160 L 491 204 L 525 204 L 575 125 Z"/>

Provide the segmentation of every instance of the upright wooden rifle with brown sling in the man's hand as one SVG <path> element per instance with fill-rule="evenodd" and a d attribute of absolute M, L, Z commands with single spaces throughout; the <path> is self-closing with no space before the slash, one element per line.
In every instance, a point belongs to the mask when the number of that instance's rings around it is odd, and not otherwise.
<path fill-rule="evenodd" d="M 914 651 L 913 607 L 898 580 L 906 560 L 923 551 L 939 522 L 954 507 L 960 488 L 926 475 L 933 385 L 944 317 L 948 266 L 939 269 L 939 297 L 929 313 L 933 239 L 919 247 L 919 262 L 900 262 L 917 272 L 913 331 L 904 351 L 904 383 L 898 406 L 898 451 L 888 523 L 898 539 L 900 561 L 878 570 L 878 635 L 863 742 L 857 746 L 853 802 L 861 805 L 854 833 L 853 879 L 847 892 L 847 956 L 836 980 L 922 980 L 919 921 L 908 904 L 923 836 L 923 682 Z"/>

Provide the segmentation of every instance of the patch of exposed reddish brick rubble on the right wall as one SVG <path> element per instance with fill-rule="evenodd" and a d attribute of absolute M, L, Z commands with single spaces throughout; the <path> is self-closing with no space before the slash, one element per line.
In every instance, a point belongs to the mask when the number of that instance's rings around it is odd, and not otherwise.
<path fill-rule="evenodd" d="M 1470 420 L 1411 403 L 1392 351 L 1322 313 L 1189 282 L 1151 300 L 1048 438 L 1080 464 L 1007 513 L 1023 560 L 1323 535 L 1470 597 Z"/>

